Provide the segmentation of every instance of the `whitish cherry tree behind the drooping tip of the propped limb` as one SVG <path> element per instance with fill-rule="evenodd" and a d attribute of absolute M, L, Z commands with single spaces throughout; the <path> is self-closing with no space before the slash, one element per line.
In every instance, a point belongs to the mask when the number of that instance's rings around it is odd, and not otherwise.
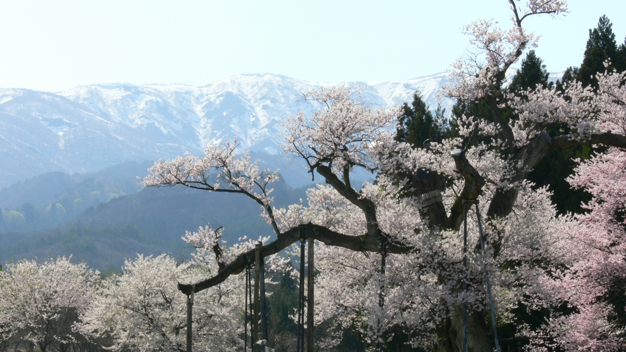
<path fill-rule="evenodd" d="M 215 261 L 212 262 L 215 266 Z M 177 282 L 195 282 L 217 266 L 177 264 L 166 254 L 127 260 L 120 275 L 105 279 L 79 330 L 113 351 L 186 351 L 187 298 Z M 237 276 L 195 295 L 194 351 L 239 351 L 244 282 Z"/>

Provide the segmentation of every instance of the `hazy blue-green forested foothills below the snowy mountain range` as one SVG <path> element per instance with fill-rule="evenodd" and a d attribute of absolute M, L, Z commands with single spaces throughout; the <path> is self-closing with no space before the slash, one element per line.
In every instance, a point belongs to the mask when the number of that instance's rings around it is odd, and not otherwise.
<path fill-rule="evenodd" d="M 87 179 L 71 190 L 74 194 L 109 192 L 111 195 L 115 194 L 113 190 L 120 190 L 113 185 L 115 182 L 104 179 Z M 305 199 L 308 187 L 292 189 L 280 181 L 274 188 L 273 195 L 280 206 Z M 87 204 L 96 202 L 95 197 L 85 199 Z M 183 186 L 147 188 L 134 194 L 115 194 L 82 212 L 74 205 L 77 200 L 82 199 L 39 207 L 24 204 L 18 209 L 4 210 L 0 263 L 71 255 L 76 261 L 84 260 L 91 267 L 108 271 L 120 267 L 125 258 L 135 257 L 136 253 L 168 252 L 184 259 L 192 249 L 180 237 L 186 230 L 197 230 L 207 222 L 223 226 L 223 239 L 229 243 L 243 236 L 272 235 L 269 225 L 259 216 L 259 205 L 244 196 L 201 192 Z M 43 229 L 46 225 L 48 228 Z"/>

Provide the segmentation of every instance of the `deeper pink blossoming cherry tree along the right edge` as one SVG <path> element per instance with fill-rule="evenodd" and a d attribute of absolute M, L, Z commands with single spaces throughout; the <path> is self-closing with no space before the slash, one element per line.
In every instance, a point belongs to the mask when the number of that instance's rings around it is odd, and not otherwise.
<path fill-rule="evenodd" d="M 607 63 L 608 66 L 608 63 Z M 626 73 L 597 76 L 595 106 L 602 130 L 626 134 Z M 567 269 L 555 271 L 554 296 L 574 309 L 553 314 L 530 333 L 567 350 L 622 351 L 626 347 L 626 150 L 611 147 L 580 164 L 569 180 L 592 194 L 588 213 L 570 219 Z M 552 338 L 550 338 L 552 337 Z M 541 347 L 541 346 L 539 346 Z"/>

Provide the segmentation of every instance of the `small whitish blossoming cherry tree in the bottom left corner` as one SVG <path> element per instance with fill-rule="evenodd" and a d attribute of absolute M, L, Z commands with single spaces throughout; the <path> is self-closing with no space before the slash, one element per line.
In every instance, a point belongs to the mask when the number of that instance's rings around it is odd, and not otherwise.
<path fill-rule="evenodd" d="M 0 271 L 0 311 L 4 341 L 32 342 L 44 352 L 66 350 L 84 341 L 74 330 L 79 314 L 94 298 L 99 273 L 71 258 L 8 263 Z"/>

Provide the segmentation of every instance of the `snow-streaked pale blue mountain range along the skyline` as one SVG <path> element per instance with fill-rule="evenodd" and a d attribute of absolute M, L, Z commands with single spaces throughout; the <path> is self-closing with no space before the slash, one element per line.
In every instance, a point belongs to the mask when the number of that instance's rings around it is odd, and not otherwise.
<path fill-rule="evenodd" d="M 434 108 L 446 81 L 440 73 L 351 84 L 362 86 L 366 101 L 375 106 L 411 101 L 419 90 Z M 235 136 L 242 148 L 276 154 L 280 120 L 315 108 L 302 93 L 333 85 L 239 75 L 202 87 L 88 85 L 60 93 L 0 89 L 0 186 L 53 170 L 86 172 L 124 160 L 200 154 L 209 143 Z"/>

